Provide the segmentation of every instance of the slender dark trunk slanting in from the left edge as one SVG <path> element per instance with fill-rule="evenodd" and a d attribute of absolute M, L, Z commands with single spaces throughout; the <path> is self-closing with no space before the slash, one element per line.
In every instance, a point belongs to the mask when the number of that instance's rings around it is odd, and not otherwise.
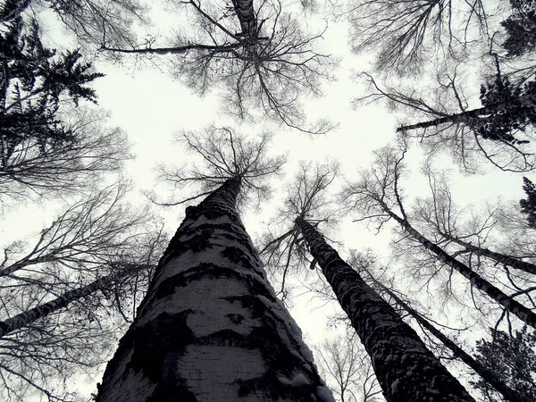
<path fill-rule="evenodd" d="M 10 332 L 28 325 L 31 322 L 35 322 L 39 318 L 46 317 L 46 315 L 53 313 L 54 311 L 69 306 L 69 304 L 74 300 L 79 300 L 82 297 L 86 297 L 91 293 L 96 292 L 96 290 L 104 289 L 110 283 L 117 281 L 120 278 L 121 276 L 119 275 L 103 276 L 102 278 L 89 283 L 87 286 L 65 292 L 62 296 L 54 298 L 54 300 L 31 308 L 28 311 L 17 314 L 12 318 L 8 318 L 7 320 L 1 321 L 0 338 L 4 337 Z"/>

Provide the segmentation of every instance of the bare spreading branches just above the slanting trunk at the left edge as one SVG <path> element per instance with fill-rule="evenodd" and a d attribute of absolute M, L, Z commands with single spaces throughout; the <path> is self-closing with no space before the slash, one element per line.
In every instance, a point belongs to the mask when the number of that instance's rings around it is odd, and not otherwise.
<path fill-rule="evenodd" d="M 54 272 L 49 266 L 39 269 L 38 264 L 59 264 L 74 271 L 95 272 L 101 264 L 111 264 L 121 255 L 136 255 L 138 239 L 147 235 L 151 215 L 147 208 L 136 211 L 125 204 L 129 191 L 127 182 L 97 189 L 88 197 L 72 202 L 46 229 L 41 230 L 37 241 L 30 247 L 14 242 L 4 249 L 0 264 L 0 277 L 29 269 Z M 146 230 L 143 230 L 143 229 Z M 25 248 L 26 252 L 16 252 Z"/>

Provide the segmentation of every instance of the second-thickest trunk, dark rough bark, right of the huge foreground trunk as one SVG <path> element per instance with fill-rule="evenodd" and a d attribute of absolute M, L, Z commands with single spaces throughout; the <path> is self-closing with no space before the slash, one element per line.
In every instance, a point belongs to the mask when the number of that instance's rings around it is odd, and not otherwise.
<path fill-rule="evenodd" d="M 374 373 L 388 402 L 474 400 L 417 333 L 311 224 L 303 219 L 297 219 L 296 224 L 371 356 Z"/>

